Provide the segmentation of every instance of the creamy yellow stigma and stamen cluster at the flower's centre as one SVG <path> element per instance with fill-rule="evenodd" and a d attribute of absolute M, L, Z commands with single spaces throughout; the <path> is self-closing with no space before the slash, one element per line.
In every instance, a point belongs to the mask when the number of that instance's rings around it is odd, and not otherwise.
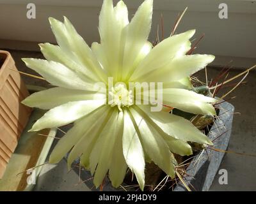
<path fill-rule="evenodd" d="M 111 107 L 117 106 L 122 111 L 122 107 L 131 106 L 132 104 L 132 91 L 128 91 L 123 84 L 112 87 L 109 91 L 109 105 Z"/>

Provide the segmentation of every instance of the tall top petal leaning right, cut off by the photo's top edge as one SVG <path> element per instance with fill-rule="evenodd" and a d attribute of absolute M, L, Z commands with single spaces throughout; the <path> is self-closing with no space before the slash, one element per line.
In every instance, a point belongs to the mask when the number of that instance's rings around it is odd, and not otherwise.
<path fill-rule="evenodd" d="M 152 47 L 148 45 L 148 35 L 151 30 L 153 1 L 146 0 L 136 11 L 131 23 L 127 26 L 124 50 L 123 80 L 131 76 L 134 69 L 148 54 Z M 142 55 L 141 55 L 142 54 Z"/>

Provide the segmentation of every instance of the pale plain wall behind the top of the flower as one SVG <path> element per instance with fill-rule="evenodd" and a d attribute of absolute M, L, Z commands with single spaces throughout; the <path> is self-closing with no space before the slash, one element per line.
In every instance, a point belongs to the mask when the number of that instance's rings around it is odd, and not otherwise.
<path fill-rule="evenodd" d="M 142 2 L 125 1 L 130 18 Z M 28 3 L 36 4 L 36 19 L 26 17 Z M 195 28 L 195 38 L 205 34 L 197 53 L 216 55 L 215 66 L 225 66 L 231 60 L 237 68 L 252 66 L 256 62 L 256 1 L 225 1 L 228 19 L 218 17 L 220 3 L 224 1 L 155 0 L 150 41 L 156 39 L 161 13 L 166 37 L 178 13 L 188 6 L 177 33 Z M 93 41 L 99 41 L 97 26 L 101 4 L 102 0 L 0 0 L 0 48 L 38 50 L 37 43 L 55 43 L 48 17 L 61 20 L 63 15 L 71 20 L 90 45 Z"/>

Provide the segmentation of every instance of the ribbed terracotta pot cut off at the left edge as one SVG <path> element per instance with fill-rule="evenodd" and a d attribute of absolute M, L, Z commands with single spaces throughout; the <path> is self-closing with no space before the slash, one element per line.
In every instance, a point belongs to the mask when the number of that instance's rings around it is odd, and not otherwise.
<path fill-rule="evenodd" d="M 20 103 L 27 96 L 12 56 L 0 50 L 0 179 L 31 113 L 31 108 Z"/>

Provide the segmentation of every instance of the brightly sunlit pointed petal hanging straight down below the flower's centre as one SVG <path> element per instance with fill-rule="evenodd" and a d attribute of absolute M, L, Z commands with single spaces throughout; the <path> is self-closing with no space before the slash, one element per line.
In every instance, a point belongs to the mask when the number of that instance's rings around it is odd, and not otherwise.
<path fill-rule="evenodd" d="M 127 165 L 135 173 L 140 189 L 145 185 L 145 159 L 140 138 L 127 110 L 124 110 L 123 151 Z"/>

